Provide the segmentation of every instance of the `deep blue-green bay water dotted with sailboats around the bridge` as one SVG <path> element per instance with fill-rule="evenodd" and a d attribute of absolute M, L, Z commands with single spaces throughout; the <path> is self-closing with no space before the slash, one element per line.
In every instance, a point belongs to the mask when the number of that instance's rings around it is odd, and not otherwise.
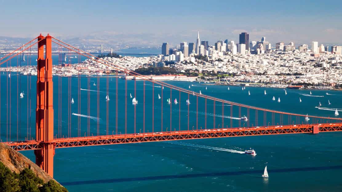
<path fill-rule="evenodd" d="M 62 86 L 62 107 L 58 108 L 58 79 Z M 27 136 L 27 129 L 31 129 L 31 136 L 35 137 L 35 109 L 36 109 L 36 76 L 17 76 L 12 73 L 8 78 L 6 73 L 0 74 L 0 104 L 1 104 L 1 139 L 5 141 L 6 131 L 11 130 L 10 141 L 17 137 L 18 119 L 18 140 Z M 31 80 L 31 81 L 30 81 Z M 109 84 L 109 134 L 115 131 L 115 83 L 116 78 L 108 78 Z M 81 103 L 80 114 L 88 115 L 87 96 L 88 91 L 81 90 L 81 100 L 78 100 L 78 90 L 90 89 L 100 92 L 100 134 L 106 133 L 106 78 L 99 78 L 99 83 L 94 77 L 70 78 L 71 93 L 75 103 L 70 104 L 71 113 L 78 113 L 77 104 Z M 93 86 L 93 81 L 96 86 Z M 18 83 L 17 83 L 18 82 Z M 31 82 L 31 89 L 27 90 L 28 82 Z M 68 127 L 68 77 L 54 77 L 54 130 L 58 135 L 58 124 L 61 125 L 60 136 L 67 135 Z M 324 97 L 308 97 L 299 93 L 309 94 L 307 90 L 287 90 L 287 95 L 282 89 L 204 85 L 188 82 L 168 82 L 176 86 L 187 88 L 196 92 L 201 90 L 202 94 L 244 103 L 248 105 L 294 112 L 299 114 L 334 116 L 330 110 L 319 110 L 315 108 L 318 102 L 322 107 L 342 108 L 339 91 L 318 91 L 313 90 L 312 95 L 324 95 Z M 124 92 L 125 81 L 118 79 L 118 130 L 124 132 Z M 143 81 L 136 82 L 136 98 L 139 104 L 136 105 L 136 132 L 143 129 Z M 145 130 L 152 131 L 152 83 L 145 82 Z M 6 87 L 8 85 L 8 91 Z M 134 106 L 131 104 L 129 94 L 134 96 L 134 81 L 127 81 L 127 130 L 134 132 Z M 89 86 L 89 88 L 88 88 Z M 157 86 L 157 85 L 155 85 Z M 248 90 L 251 95 L 248 95 Z M 267 94 L 264 95 L 264 90 Z M 18 98 L 18 93 L 24 91 L 23 99 Z M 181 129 L 187 129 L 187 105 L 185 100 L 187 94 L 163 90 L 163 100 L 158 100 L 158 93 L 162 89 L 154 87 L 155 98 L 155 122 L 154 131 L 161 130 L 161 102 L 163 102 L 163 129 L 170 129 L 170 105 L 166 103 L 167 98 L 177 98 L 180 102 L 172 103 L 172 129 L 179 129 L 179 106 L 181 106 Z M 326 95 L 328 92 L 331 95 Z M 97 116 L 96 98 L 97 92 L 90 91 L 90 116 Z M 7 97 L 8 95 L 8 97 Z M 278 97 L 281 102 L 272 101 L 272 97 Z M 299 97 L 302 102 L 299 102 Z M 28 100 L 27 100 L 28 99 Z M 196 129 L 196 97 L 189 95 L 189 128 Z M 331 105 L 328 105 L 328 99 Z M 31 100 L 31 107 L 29 103 Z M 17 102 L 18 101 L 18 102 Z M 204 110 L 205 101 L 198 98 L 199 114 L 198 128 L 205 127 Z M 222 124 L 222 104 L 215 103 L 215 127 Z M 8 107 L 10 106 L 10 107 Z M 7 111 L 11 114 L 11 121 L 7 120 Z M 18 111 L 18 112 L 17 112 Z M 29 113 L 27 113 L 29 111 Z M 58 112 L 62 117 L 58 118 Z M 18 115 L 17 115 L 18 114 Z M 29 118 L 27 118 L 29 114 Z M 31 117 L 30 117 L 31 115 Z M 247 115 L 247 110 L 242 108 L 241 115 Z M 259 112 L 258 125 L 263 125 L 262 113 Z M 230 126 L 230 106 L 224 106 L 224 127 Z M 77 116 L 70 116 L 71 134 L 77 136 Z M 213 102 L 207 101 L 207 127 L 213 127 Z M 238 107 L 233 107 L 233 117 L 238 117 Z M 271 121 L 271 114 L 267 114 L 267 122 Z M 81 133 L 87 132 L 88 118 L 81 117 Z M 255 112 L 250 110 L 249 123 L 256 124 Z M 279 122 L 276 116 L 276 122 Z M 58 120 L 60 122 L 58 123 Z M 291 117 L 291 121 L 295 118 Z M 312 122 L 313 119 L 310 120 Z M 300 119 L 300 122 L 304 119 Z M 288 123 L 288 117 L 284 116 L 284 122 Z M 235 127 L 239 120 L 232 120 Z M 241 123 L 241 126 L 243 126 Z M 91 133 L 96 134 L 96 124 L 90 120 Z M 28 126 L 27 126 L 28 125 Z M 222 125 L 221 125 L 222 126 Z M 247 126 L 247 123 L 246 125 Z M 115 134 L 115 133 L 114 133 Z M 232 137 L 216 139 L 196 139 L 181 142 L 155 142 L 122 144 L 93 147 L 77 147 L 56 149 L 54 157 L 54 178 L 64 184 L 69 191 L 341 191 L 339 176 L 342 169 L 341 153 L 342 134 L 319 133 L 290 134 L 272 136 L 251 136 Z M 202 147 L 196 147 L 196 145 Z M 203 148 L 204 146 L 204 148 Z M 251 157 L 246 154 L 222 151 L 211 147 L 244 151 L 250 147 L 257 151 L 257 156 Z M 23 151 L 23 154 L 34 161 L 33 151 Z M 270 178 L 262 179 L 264 166 L 267 165 Z"/>

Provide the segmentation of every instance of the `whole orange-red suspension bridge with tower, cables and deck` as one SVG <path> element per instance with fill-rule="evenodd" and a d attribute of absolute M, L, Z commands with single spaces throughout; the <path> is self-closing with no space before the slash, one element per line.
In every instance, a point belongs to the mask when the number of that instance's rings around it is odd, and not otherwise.
<path fill-rule="evenodd" d="M 34 43 L 34 41 L 36 41 Z M 106 131 L 105 134 L 100 134 L 100 123 L 97 121 L 96 123 L 96 133 L 93 133 L 90 126 L 90 119 L 88 119 L 87 125 L 87 132 L 82 135 L 81 133 L 81 124 L 80 124 L 80 117 L 78 117 L 77 122 L 77 136 L 73 135 L 71 129 L 76 127 L 75 124 L 71 124 L 71 107 L 70 107 L 70 92 L 71 92 L 71 81 L 68 78 L 68 130 L 67 136 L 62 134 L 62 126 L 60 124 L 60 120 L 62 118 L 61 110 L 58 110 L 58 129 L 54 129 L 54 108 L 53 108 L 53 81 L 52 81 L 52 43 L 57 44 L 60 48 L 64 48 L 70 51 L 70 53 L 77 54 L 79 56 L 83 56 L 90 60 L 94 60 L 97 63 L 106 65 L 108 68 L 116 70 L 117 72 L 122 72 L 127 75 L 135 76 L 134 79 L 134 96 L 136 95 L 136 79 L 142 79 L 144 81 L 143 85 L 143 117 L 141 119 L 137 119 L 136 115 L 136 105 L 134 105 L 134 131 L 133 133 L 129 133 L 127 131 L 128 125 L 127 122 L 127 103 L 128 103 L 128 93 L 127 93 L 127 79 L 125 80 L 125 89 L 124 89 L 124 98 L 125 98 L 125 107 L 119 108 L 118 107 L 118 78 L 116 78 L 115 82 L 115 130 L 109 130 L 109 115 L 108 115 L 108 102 L 106 104 Z M 115 63 L 111 63 L 106 61 L 102 58 L 98 58 L 94 55 L 86 53 L 81 49 L 69 45 L 61 40 L 50 36 L 42 36 L 41 34 L 36 37 L 35 39 L 29 41 L 28 43 L 24 44 L 22 47 L 12 51 L 11 53 L 5 55 L 0 59 L 0 65 L 3 63 L 9 63 L 11 66 L 11 59 L 18 60 L 18 56 L 20 56 L 23 51 L 29 50 L 32 46 L 38 46 L 38 57 L 37 57 L 37 108 L 36 108 L 36 138 L 31 138 L 31 130 L 29 129 L 29 125 L 27 124 L 27 136 L 25 141 L 19 141 L 19 124 L 18 124 L 18 106 L 17 106 L 17 123 L 16 123 L 16 139 L 11 137 L 13 135 L 12 130 L 12 123 L 11 123 L 11 109 L 6 110 L 6 145 L 12 147 L 14 150 L 21 151 L 21 150 L 34 150 L 36 156 L 36 164 L 40 166 L 45 172 L 49 175 L 53 176 L 53 157 L 55 155 L 55 148 L 66 148 L 66 147 L 82 147 L 82 146 L 96 146 L 96 145 L 112 145 L 112 144 L 127 144 L 127 143 L 141 143 L 141 142 L 158 142 L 158 141 L 173 141 L 173 140 L 183 140 L 183 139 L 202 139 L 202 138 L 219 138 L 219 137 L 237 137 L 237 136 L 254 136 L 254 135 L 277 135 L 277 134 L 294 134 L 294 133 L 311 133 L 311 134 L 318 134 L 319 132 L 334 132 L 334 131 L 342 131 L 342 123 L 341 118 L 337 117 L 321 117 L 321 116 L 312 116 L 312 115 L 303 115 L 303 114 L 295 114 L 295 113 L 288 113 L 288 112 L 281 112 L 277 110 L 271 110 L 266 108 L 260 108 L 255 106 L 249 106 L 246 104 L 231 102 L 219 98 L 215 98 L 209 95 L 201 94 L 198 92 L 191 91 L 189 89 L 184 89 L 181 87 L 177 87 L 166 82 L 161 82 L 158 80 L 154 80 L 150 77 L 138 74 L 134 71 L 128 70 L 123 66 L 120 66 Z M 78 57 L 80 58 L 80 57 Z M 62 60 L 62 59 L 60 59 Z M 80 61 L 80 59 L 79 59 Z M 18 62 L 17 62 L 18 64 Z M 20 67 L 20 66 L 18 66 Z M 18 78 L 18 77 L 17 77 Z M 81 99 L 80 96 L 80 78 L 84 78 L 81 76 L 77 76 L 78 78 L 78 100 Z M 89 76 L 85 77 L 88 80 L 88 89 L 90 85 Z M 27 79 L 29 79 L 27 77 Z M 11 85 L 11 79 L 8 78 L 6 80 L 6 103 L 11 103 L 11 97 L 8 97 L 8 92 L 14 90 L 14 87 L 9 87 Z M 9 81 L 9 82 L 8 82 Z M 29 81 L 28 81 L 29 82 Z M 152 83 L 152 95 L 146 95 L 145 91 L 145 82 Z M 19 81 L 17 80 L 17 103 L 19 99 L 19 89 L 18 85 Z M 95 82 L 94 82 L 95 84 Z M 99 78 L 97 77 L 97 84 L 99 84 Z M 170 95 L 164 95 L 163 91 L 161 91 L 161 102 L 158 99 L 155 99 L 155 85 L 164 88 L 170 89 Z M 29 87 L 29 83 L 27 83 L 27 90 L 31 89 Z M 106 80 L 106 94 L 108 95 L 108 78 Z M 61 98 L 65 97 L 62 95 L 62 88 L 66 89 L 66 87 L 62 87 L 61 79 L 58 79 L 58 109 L 62 108 L 62 101 Z M 99 86 L 97 86 L 97 97 L 96 102 L 97 108 L 97 118 L 99 118 L 100 114 L 100 107 L 99 107 Z M 14 90 L 15 91 L 15 90 Z M 196 115 L 193 117 L 195 125 L 190 127 L 189 121 L 189 104 L 187 105 L 187 122 L 181 123 L 181 93 L 182 95 L 187 95 L 187 99 L 192 97 L 196 98 Z M 1 92 L 0 92 L 1 94 Z M 10 94 L 11 95 L 11 94 Z M 174 98 L 179 99 L 179 105 L 176 106 L 178 108 L 174 108 L 175 110 L 172 111 L 172 105 L 170 105 L 170 122 L 166 123 L 163 122 L 163 97 L 168 97 L 172 101 L 172 95 Z M 200 103 L 198 100 L 204 99 L 204 106 L 203 103 Z M 87 112 L 88 115 L 90 114 L 90 92 L 88 91 L 87 98 L 88 102 Z M 183 98 L 184 99 L 184 98 Z M 152 108 L 151 111 L 146 111 L 145 104 L 147 100 L 152 100 Z M 28 101 L 28 97 L 27 97 Z M 213 102 L 213 111 L 212 113 L 212 124 L 207 124 L 207 119 L 211 118 L 208 117 L 207 112 L 207 102 Z M 153 107 L 155 103 L 161 104 L 161 110 L 155 111 Z M 0 102 L 1 103 L 1 102 Z M 27 102 L 27 110 L 31 108 L 31 102 Z M 216 104 L 222 104 L 221 114 L 215 114 L 217 109 L 215 109 Z M 228 104 L 229 110 L 225 112 L 224 109 Z M 199 107 L 204 107 L 204 123 L 199 121 Z M 80 114 L 81 103 L 78 102 L 78 113 Z M 234 117 L 233 108 L 238 108 L 238 117 L 241 117 L 241 109 L 246 111 L 247 119 L 246 126 L 245 123 L 241 126 L 241 120 L 238 122 L 238 126 L 235 126 L 233 123 L 233 119 L 231 118 L 228 123 L 224 120 L 224 114 L 228 114 L 230 117 Z M 178 110 L 178 111 L 177 111 Z M 120 127 L 124 127 L 124 132 L 118 131 L 118 114 L 124 114 L 124 125 L 120 124 Z M 149 113 L 152 118 L 146 120 L 146 113 Z M 161 116 L 160 122 L 155 122 L 155 114 L 160 113 Z M 178 115 L 178 124 L 172 124 L 174 118 L 172 118 L 172 114 Z M 182 112 L 184 113 L 184 112 Z M 250 125 L 250 113 L 254 114 L 255 119 L 253 119 L 254 124 Z M 258 122 L 260 119 L 263 119 L 263 122 Z M 216 122 L 217 118 L 222 117 L 221 122 Z M 267 118 L 271 117 L 271 121 L 267 122 Z M 310 120 L 305 120 L 305 117 L 310 117 Z M 165 118 L 165 117 L 164 117 Z M 29 113 L 27 113 L 27 119 L 29 119 Z M 136 123 L 138 121 L 142 121 L 142 129 L 137 132 Z M 173 121 L 172 121 L 173 120 Z M 145 128 L 145 122 L 150 121 L 152 122 L 152 128 Z M 277 122 L 277 123 L 276 123 Z M 217 123 L 221 123 L 216 125 Z M 220 127 L 221 126 L 221 127 Z M 1 130 L 1 127 L 0 127 Z M 148 130 L 152 130 L 149 132 Z M 158 131 L 156 131 L 158 130 Z M 160 131 L 159 131 L 160 130 Z M 115 133 L 114 133 L 115 132 Z"/>

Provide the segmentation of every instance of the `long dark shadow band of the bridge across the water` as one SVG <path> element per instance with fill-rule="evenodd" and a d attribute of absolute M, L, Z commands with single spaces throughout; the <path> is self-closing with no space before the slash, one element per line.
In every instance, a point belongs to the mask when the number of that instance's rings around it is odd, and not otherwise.
<path fill-rule="evenodd" d="M 300 167 L 300 168 L 284 168 L 284 169 L 271 169 L 269 173 L 286 173 L 286 172 L 306 172 L 306 171 L 326 171 L 333 169 L 342 169 L 342 165 L 336 166 L 320 166 L 320 167 Z M 85 180 L 85 181 L 70 181 L 61 182 L 63 186 L 70 185 L 83 185 L 83 184 L 99 184 L 99 183 L 118 183 L 129 181 L 148 181 L 148 180 L 163 180 L 163 179 L 183 179 L 183 178 L 196 178 L 196 177 L 217 177 L 229 175 L 246 175 L 246 174 L 262 174 L 262 170 L 250 171 L 232 171 L 232 172 L 212 172 L 212 173 L 194 173 L 194 174 L 180 174 L 180 175 L 160 175 L 160 176 L 147 176 L 147 177 L 130 177 L 130 178 L 116 178 L 116 179 L 98 179 L 98 180 Z"/>

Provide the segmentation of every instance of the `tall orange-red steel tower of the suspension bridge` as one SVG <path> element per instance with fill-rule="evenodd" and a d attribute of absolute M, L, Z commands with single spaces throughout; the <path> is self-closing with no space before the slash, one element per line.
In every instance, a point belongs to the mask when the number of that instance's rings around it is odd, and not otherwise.
<path fill-rule="evenodd" d="M 53 177 L 53 83 L 52 83 L 52 38 L 38 37 L 37 59 L 37 108 L 36 108 L 36 141 L 42 149 L 36 149 L 36 164 Z M 45 46 L 45 58 L 44 58 Z"/>

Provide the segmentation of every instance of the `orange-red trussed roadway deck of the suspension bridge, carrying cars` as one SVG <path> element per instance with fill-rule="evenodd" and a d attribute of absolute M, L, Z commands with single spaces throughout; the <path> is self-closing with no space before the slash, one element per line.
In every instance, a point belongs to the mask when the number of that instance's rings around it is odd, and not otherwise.
<path fill-rule="evenodd" d="M 55 148 L 81 147 L 94 145 L 111 145 L 125 143 L 142 143 L 157 141 L 175 141 L 184 139 L 219 138 L 219 137 L 238 137 L 253 135 L 279 135 L 293 133 L 313 133 L 314 125 L 318 125 L 319 132 L 342 131 L 342 123 L 323 123 L 323 124 L 301 124 L 269 127 L 249 127 L 249 128 L 223 128 L 223 129 L 202 129 L 189 131 L 168 131 L 154 133 L 136 134 L 117 134 L 86 136 L 73 138 L 57 138 L 54 140 Z M 5 142 L 15 150 L 34 150 L 41 149 L 41 142 Z"/>

